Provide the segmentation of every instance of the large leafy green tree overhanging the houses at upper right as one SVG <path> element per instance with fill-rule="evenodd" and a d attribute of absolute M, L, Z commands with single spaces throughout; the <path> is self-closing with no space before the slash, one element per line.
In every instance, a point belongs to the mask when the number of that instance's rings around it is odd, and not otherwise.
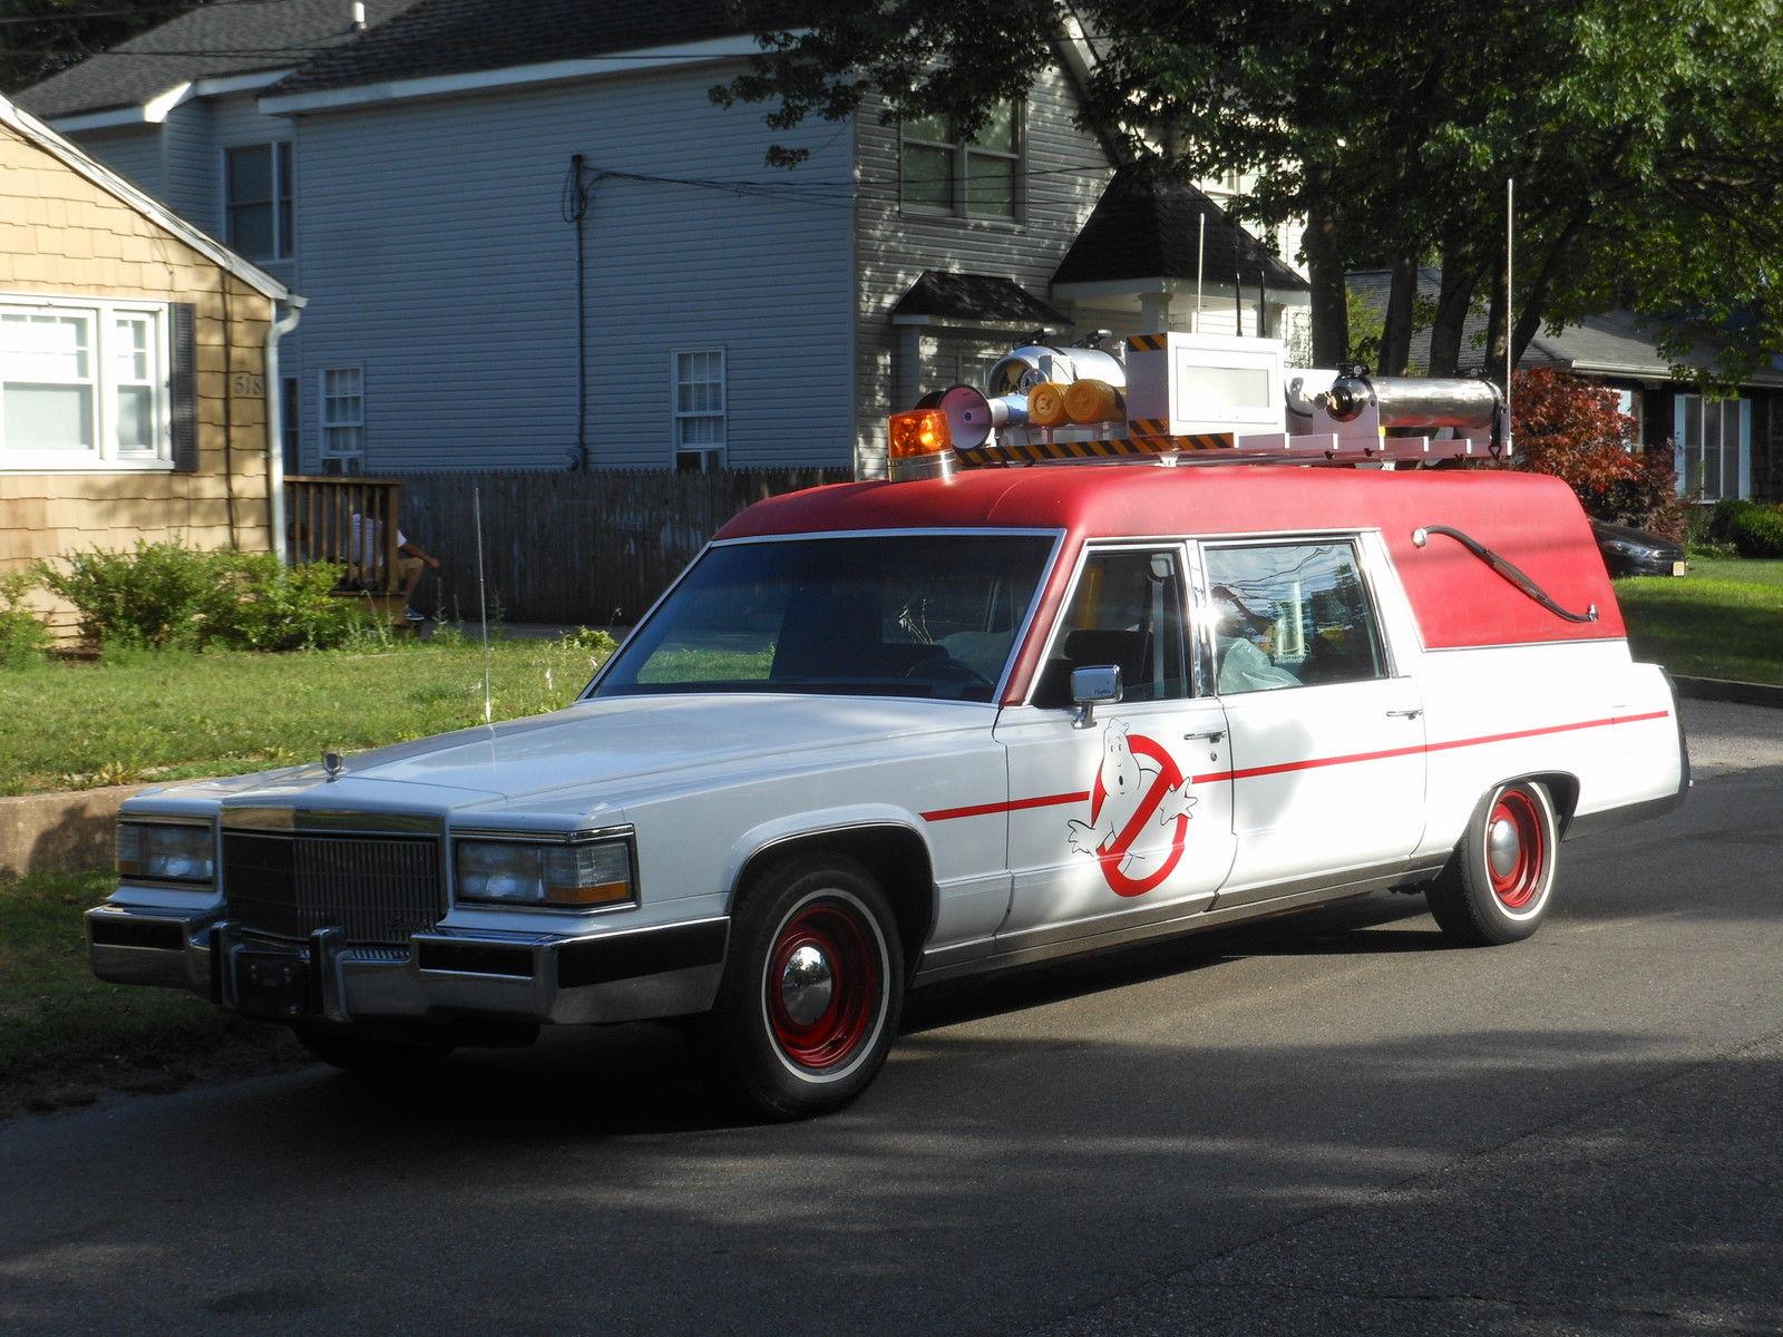
<path fill-rule="evenodd" d="M 1314 358 L 1350 346 L 1344 275 L 1385 266 L 1382 371 L 1403 371 L 1417 271 L 1442 267 L 1432 369 L 1521 357 L 1608 307 L 1699 333 L 1730 371 L 1783 348 L 1778 0 L 883 0 L 788 27 L 738 0 L 765 53 L 713 89 L 768 125 L 947 116 L 965 134 L 1068 48 L 1080 121 L 1186 178 L 1241 171 L 1257 223 L 1307 221 Z M 776 150 L 770 162 L 797 160 Z M 1519 184 L 1505 292 L 1503 184 Z M 1462 323 L 1489 308 L 1489 348 Z"/>

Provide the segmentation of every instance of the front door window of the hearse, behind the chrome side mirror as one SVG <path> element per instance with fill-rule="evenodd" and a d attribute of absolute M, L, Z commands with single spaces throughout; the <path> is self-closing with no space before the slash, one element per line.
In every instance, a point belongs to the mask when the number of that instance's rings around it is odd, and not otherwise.
<path fill-rule="evenodd" d="M 1036 706 L 1072 704 L 1072 670 L 1114 665 L 1123 701 L 1175 701 L 1193 693 L 1182 619 L 1177 549 L 1091 553 L 1034 692 Z"/>

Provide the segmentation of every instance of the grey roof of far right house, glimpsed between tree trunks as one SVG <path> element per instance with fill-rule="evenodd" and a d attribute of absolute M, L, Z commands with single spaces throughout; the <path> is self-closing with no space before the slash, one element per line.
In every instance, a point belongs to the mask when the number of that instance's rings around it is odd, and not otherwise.
<path fill-rule="evenodd" d="M 1385 269 L 1364 269 L 1350 275 L 1350 291 L 1373 310 L 1387 310 L 1387 291 L 1393 278 Z M 1417 271 L 1417 296 L 1435 303 L 1442 289 L 1441 269 Z M 1606 310 L 1567 324 L 1560 333 L 1539 332 L 1523 353 L 1521 367 L 1558 367 L 1585 376 L 1628 376 L 1639 380 L 1669 380 L 1674 358 L 1660 351 L 1667 333 L 1664 321 L 1637 316 L 1631 310 Z M 1683 358 L 1685 365 L 1713 367 L 1721 349 L 1699 340 Z M 1410 365 L 1430 364 L 1430 330 L 1412 333 Z M 1460 337 L 1460 364 L 1464 369 L 1485 364 L 1485 310 L 1467 312 Z M 1760 367 L 1749 373 L 1744 385 L 1783 387 L 1783 371 Z"/>

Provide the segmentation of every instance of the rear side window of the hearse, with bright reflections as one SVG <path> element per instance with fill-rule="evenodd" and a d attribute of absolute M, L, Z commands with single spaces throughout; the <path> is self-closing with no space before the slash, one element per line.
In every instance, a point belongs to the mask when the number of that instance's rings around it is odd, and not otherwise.
<path fill-rule="evenodd" d="M 1387 676 L 1355 544 L 1207 547 L 1204 562 L 1221 695 Z"/>

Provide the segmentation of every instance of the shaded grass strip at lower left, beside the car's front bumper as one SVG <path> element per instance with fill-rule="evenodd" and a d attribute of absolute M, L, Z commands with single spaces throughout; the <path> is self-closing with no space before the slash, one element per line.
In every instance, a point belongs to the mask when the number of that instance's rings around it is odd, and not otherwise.
<path fill-rule="evenodd" d="M 93 979 L 80 913 L 112 886 L 111 874 L 0 882 L 0 1118 L 300 1057 L 283 1030 L 203 998 Z"/>

